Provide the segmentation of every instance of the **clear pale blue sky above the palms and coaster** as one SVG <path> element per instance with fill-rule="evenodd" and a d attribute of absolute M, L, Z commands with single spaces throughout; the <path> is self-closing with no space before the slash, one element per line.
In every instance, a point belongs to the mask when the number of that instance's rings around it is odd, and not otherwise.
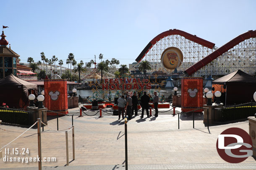
<path fill-rule="evenodd" d="M 221 47 L 256 30 L 255 0 L 3 0 L 1 24 L 13 51 L 26 62 L 69 53 L 88 62 L 103 54 L 135 61 L 158 34 L 180 29 Z M 66 65 L 66 64 L 65 64 Z M 65 66 L 64 65 L 64 66 Z M 67 65 L 66 65 L 67 66 Z"/>

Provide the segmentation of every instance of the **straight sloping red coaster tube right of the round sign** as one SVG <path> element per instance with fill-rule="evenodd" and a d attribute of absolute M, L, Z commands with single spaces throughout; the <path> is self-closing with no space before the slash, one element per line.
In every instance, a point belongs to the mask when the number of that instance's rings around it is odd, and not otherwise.
<path fill-rule="evenodd" d="M 191 75 L 213 61 L 214 59 L 218 58 L 221 56 L 223 53 L 227 52 L 234 46 L 238 45 L 240 42 L 245 41 L 246 39 L 256 37 L 256 30 L 249 30 L 246 33 L 243 33 L 236 38 L 232 39 L 230 42 L 226 43 L 224 46 L 218 48 L 216 51 L 213 53 L 209 54 L 205 58 L 201 59 L 199 62 L 195 63 L 193 66 L 189 67 L 188 69 L 185 70 L 185 72 L 188 75 Z"/>

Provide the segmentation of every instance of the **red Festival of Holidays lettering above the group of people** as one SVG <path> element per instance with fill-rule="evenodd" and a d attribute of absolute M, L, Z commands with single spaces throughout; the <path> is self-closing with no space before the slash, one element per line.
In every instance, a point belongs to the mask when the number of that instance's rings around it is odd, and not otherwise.
<path fill-rule="evenodd" d="M 151 84 L 147 83 L 149 79 L 104 79 L 102 84 L 103 90 L 138 90 L 143 89 L 151 89 Z"/>

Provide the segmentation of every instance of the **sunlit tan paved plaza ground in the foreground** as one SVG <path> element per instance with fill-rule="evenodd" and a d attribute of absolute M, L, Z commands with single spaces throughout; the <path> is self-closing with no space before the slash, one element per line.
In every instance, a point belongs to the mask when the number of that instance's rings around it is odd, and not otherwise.
<path fill-rule="evenodd" d="M 78 117 L 78 108 L 71 109 L 75 126 L 75 160 L 72 161 L 72 131 L 68 132 L 69 166 L 66 165 L 65 130 L 71 127 L 71 117 L 59 118 L 59 130 L 56 119 L 48 121 L 49 127 L 42 132 L 42 157 L 56 157 L 56 162 L 42 162 L 43 169 L 73 170 L 115 170 L 124 169 L 125 141 L 124 121 L 117 116 L 105 114 Z M 167 110 L 167 109 L 161 109 Z M 176 109 L 177 110 L 177 109 Z M 178 109 L 179 110 L 179 109 Z M 93 112 L 90 112 L 92 114 Z M 154 114 L 154 112 L 152 112 Z M 256 169 L 253 157 L 239 164 L 229 164 L 219 157 L 216 150 L 218 135 L 230 127 L 239 127 L 248 132 L 248 121 L 207 129 L 202 115 L 196 115 L 195 129 L 191 117 L 180 118 L 166 112 L 159 117 L 140 119 L 135 117 L 128 122 L 128 165 L 129 169 Z M 85 114 L 84 114 L 85 115 Z M 27 128 L 1 125 L 1 144 L 3 147 Z M 61 133 L 63 132 L 63 133 Z M 37 129 L 30 129 L 26 134 L 8 145 L 9 150 L 29 149 L 29 155 L 6 155 L 8 157 L 37 157 Z M 3 157 L 5 157 L 3 150 Z M 14 152 L 15 153 L 15 152 Z M 4 162 L 0 159 L 0 169 L 37 169 L 38 162 Z"/>

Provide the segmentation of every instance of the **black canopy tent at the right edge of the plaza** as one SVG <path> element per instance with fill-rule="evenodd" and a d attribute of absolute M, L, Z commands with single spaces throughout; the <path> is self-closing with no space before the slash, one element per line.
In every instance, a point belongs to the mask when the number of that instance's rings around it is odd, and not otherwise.
<path fill-rule="evenodd" d="M 226 76 L 223 76 L 217 80 L 212 81 L 214 84 L 221 86 L 220 89 L 226 93 L 222 93 L 226 96 L 222 96 L 225 99 L 226 104 L 240 104 L 246 102 L 255 102 L 253 100 L 253 94 L 256 91 L 256 78 L 246 74 L 241 70 L 234 71 Z M 218 89 L 215 88 L 215 91 Z M 220 91 L 220 90 L 218 90 Z M 221 92 L 222 92 L 221 91 Z M 222 101 L 225 103 L 225 101 Z"/>

